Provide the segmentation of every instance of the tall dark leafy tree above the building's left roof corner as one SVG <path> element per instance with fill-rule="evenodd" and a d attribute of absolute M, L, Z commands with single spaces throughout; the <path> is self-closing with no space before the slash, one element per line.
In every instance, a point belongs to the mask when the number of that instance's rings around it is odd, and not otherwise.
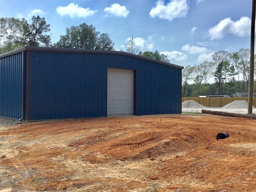
<path fill-rule="evenodd" d="M 40 16 L 33 16 L 32 23 L 28 24 L 25 19 L 22 19 L 24 24 L 24 38 L 26 39 L 26 44 L 29 46 L 43 46 L 50 45 L 50 35 L 46 33 L 50 31 L 50 24 L 46 23 L 45 18 L 40 18 Z"/>

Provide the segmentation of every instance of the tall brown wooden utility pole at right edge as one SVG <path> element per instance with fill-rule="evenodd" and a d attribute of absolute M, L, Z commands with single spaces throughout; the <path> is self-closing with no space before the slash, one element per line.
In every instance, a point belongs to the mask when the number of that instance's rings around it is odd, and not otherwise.
<path fill-rule="evenodd" d="M 256 7 L 256 0 L 252 0 L 252 24 L 251 24 L 251 46 L 250 46 L 250 73 L 249 73 L 249 91 L 248 91 L 248 114 L 252 114 L 253 72 L 254 72 L 255 7 Z"/>

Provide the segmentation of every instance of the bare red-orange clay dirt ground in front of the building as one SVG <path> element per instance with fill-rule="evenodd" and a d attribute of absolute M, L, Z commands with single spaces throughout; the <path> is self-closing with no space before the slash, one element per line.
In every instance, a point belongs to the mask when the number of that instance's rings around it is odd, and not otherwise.
<path fill-rule="evenodd" d="M 216 140 L 219 132 L 229 138 Z M 0 192 L 256 191 L 256 120 L 208 114 L 0 127 Z"/>

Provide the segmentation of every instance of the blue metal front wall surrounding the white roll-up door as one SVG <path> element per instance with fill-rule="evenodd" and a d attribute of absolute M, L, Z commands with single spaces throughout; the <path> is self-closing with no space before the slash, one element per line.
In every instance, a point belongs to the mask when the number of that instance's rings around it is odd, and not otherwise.
<path fill-rule="evenodd" d="M 181 113 L 181 69 L 125 55 L 29 51 L 27 120 L 106 116 L 107 68 L 136 71 L 136 115 Z"/>

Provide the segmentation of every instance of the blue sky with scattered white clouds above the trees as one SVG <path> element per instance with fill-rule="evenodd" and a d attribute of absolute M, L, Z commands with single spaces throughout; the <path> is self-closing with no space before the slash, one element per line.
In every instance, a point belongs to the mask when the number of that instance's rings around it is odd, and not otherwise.
<path fill-rule="evenodd" d="M 251 0 L 0 0 L 0 17 L 31 23 L 33 15 L 50 24 L 53 43 L 66 28 L 92 24 L 116 50 L 133 37 L 142 52 L 157 50 L 184 67 L 250 48 Z"/>

